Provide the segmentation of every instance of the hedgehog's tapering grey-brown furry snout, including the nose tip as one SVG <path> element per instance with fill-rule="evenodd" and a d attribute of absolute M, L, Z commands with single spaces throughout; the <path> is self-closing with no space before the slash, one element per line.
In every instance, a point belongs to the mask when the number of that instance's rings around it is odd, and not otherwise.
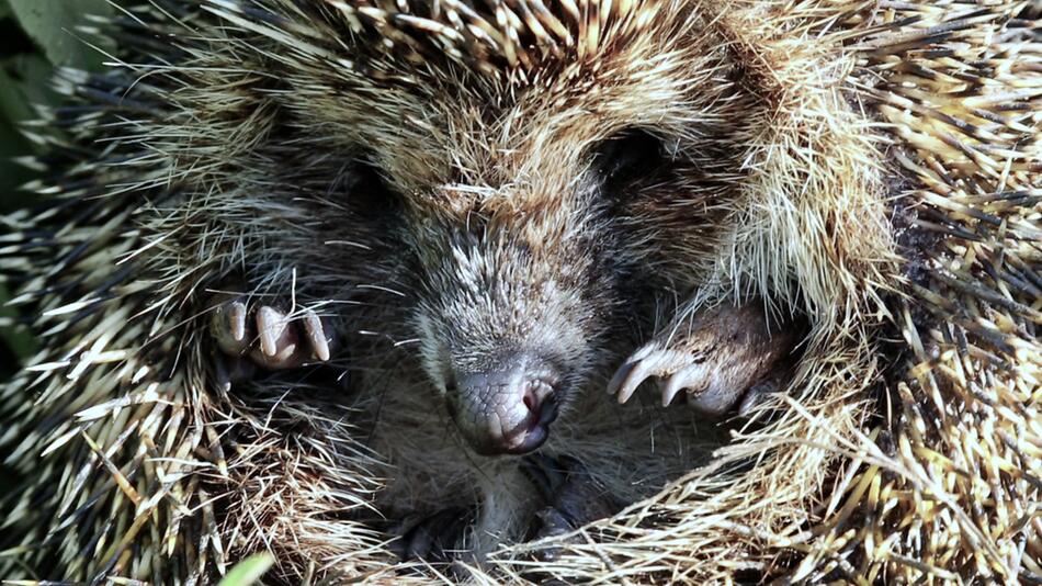
<path fill-rule="evenodd" d="M 555 177 L 560 173 L 555 173 Z M 623 273 L 589 173 L 446 185 L 416 203 L 408 241 L 427 370 L 482 453 L 537 448 L 597 356 Z M 423 218 L 423 219 L 420 219 Z"/>

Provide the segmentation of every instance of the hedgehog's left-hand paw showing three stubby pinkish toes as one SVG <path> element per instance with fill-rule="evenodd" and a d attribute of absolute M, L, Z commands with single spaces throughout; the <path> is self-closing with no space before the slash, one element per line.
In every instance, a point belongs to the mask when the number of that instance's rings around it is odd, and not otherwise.
<path fill-rule="evenodd" d="M 231 371 L 247 369 L 243 359 L 268 370 L 326 362 L 336 341 L 331 329 L 312 309 L 287 315 L 270 305 L 251 308 L 245 297 L 224 301 L 209 320 L 218 348 L 236 359 L 231 361 Z M 230 372 L 229 379 L 237 379 L 235 374 Z"/>

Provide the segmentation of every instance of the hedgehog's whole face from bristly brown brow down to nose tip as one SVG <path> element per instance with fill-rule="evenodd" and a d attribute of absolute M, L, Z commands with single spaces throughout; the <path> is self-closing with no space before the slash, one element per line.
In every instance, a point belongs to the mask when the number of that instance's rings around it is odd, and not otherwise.
<path fill-rule="evenodd" d="M 725 225 L 740 123 L 718 113 L 747 99 L 739 68 L 704 30 L 630 26 L 542 63 L 356 46 L 364 66 L 292 92 L 302 126 L 347 137 L 398 202 L 410 338 L 479 452 L 539 447 L 638 341 L 637 307 L 698 285 Z"/>

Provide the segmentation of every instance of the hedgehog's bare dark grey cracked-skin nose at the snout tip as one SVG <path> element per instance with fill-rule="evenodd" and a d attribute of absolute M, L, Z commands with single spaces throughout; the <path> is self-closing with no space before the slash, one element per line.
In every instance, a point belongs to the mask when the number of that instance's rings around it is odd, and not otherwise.
<path fill-rule="evenodd" d="M 461 373 L 446 390 L 456 426 L 484 455 L 522 454 L 546 441 L 557 418 L 557 374 L 531 358 Z"/>

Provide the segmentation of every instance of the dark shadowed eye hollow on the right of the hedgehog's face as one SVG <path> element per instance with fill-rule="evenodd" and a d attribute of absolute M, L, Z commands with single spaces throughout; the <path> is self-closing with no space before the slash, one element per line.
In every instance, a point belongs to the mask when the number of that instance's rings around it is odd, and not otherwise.
<path fill-rule="evenodd" d="M 597 145 L 593 169 L 604 188 L 615 191 L 655 172 L 665 159 L 659 137 L 643 128 L 628 128 Z"/>

